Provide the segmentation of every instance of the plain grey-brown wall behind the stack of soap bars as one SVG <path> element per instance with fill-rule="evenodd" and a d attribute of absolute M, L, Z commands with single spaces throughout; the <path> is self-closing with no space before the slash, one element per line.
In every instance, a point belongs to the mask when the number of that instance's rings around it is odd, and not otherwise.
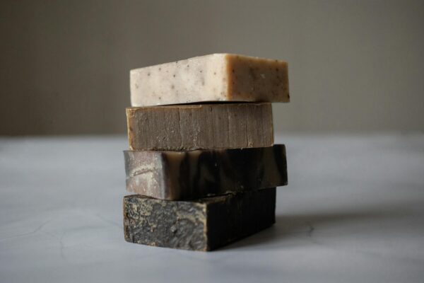
<path fill-rule="evenodd" d="M 0 1 L 0 134 L 124 133 L 129 69 L 289 62 L 277 131 L 423 131 L 424 1 Z"/>

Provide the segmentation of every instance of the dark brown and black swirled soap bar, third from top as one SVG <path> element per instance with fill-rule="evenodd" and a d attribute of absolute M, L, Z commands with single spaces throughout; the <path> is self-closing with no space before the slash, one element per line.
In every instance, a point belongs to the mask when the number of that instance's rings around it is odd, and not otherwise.
<path fill-rule="evenodd" d="M 285 146 L 197 151 L 124 151 L 126 190 L 194 200 L 287 185 Z"/>

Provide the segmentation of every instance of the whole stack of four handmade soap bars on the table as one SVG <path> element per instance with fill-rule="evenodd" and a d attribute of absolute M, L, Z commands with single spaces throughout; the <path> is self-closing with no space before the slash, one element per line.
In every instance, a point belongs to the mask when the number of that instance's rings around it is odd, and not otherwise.
<path fill-rule="evenodd" d="M 213 250 L 273 225 L 287 163 L 271 103 L 289 101 L 287 64 L 211 54 L 130 77 L 125 240 Z"/>

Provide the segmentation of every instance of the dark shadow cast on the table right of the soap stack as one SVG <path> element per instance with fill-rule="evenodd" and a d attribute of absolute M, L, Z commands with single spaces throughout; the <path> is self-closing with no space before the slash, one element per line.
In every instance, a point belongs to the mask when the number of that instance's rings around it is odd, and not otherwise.
<path fill-rule="evenodd" d="M 316 214 L 288 214 L 277 215 L 276 224 L 264 231 L 255 233 L 252 236 L 232 243 L 219 250 L 231 250 L 237 248 L 249 249 L 273 249 L 278 246 L 293 245 L 293 239 L 310 239 L 314 232 L 323 227 L 331 226 L 331 229 L 337 226 L 346 226 L 354 221 L 372 221 L 378 222 L 382 219 L 394 218 L 408 214 L 406 207 L 378 208 L 352 212 L 326 212 Z M 355 225 L 355 224 L 353 224 Z M 323 228 L 324 229 L 324 228 Z M 342 236 L 337 234 L 334 236 Z"/>

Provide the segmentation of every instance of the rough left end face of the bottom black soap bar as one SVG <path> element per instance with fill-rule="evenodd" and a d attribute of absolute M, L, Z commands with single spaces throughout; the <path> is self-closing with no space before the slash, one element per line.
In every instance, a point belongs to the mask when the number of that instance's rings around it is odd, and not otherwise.
<path fill-rule="evenodd" d="M 148 246 L 206 250 L 206 204 L 126 196 L 124 236 Z"/>

